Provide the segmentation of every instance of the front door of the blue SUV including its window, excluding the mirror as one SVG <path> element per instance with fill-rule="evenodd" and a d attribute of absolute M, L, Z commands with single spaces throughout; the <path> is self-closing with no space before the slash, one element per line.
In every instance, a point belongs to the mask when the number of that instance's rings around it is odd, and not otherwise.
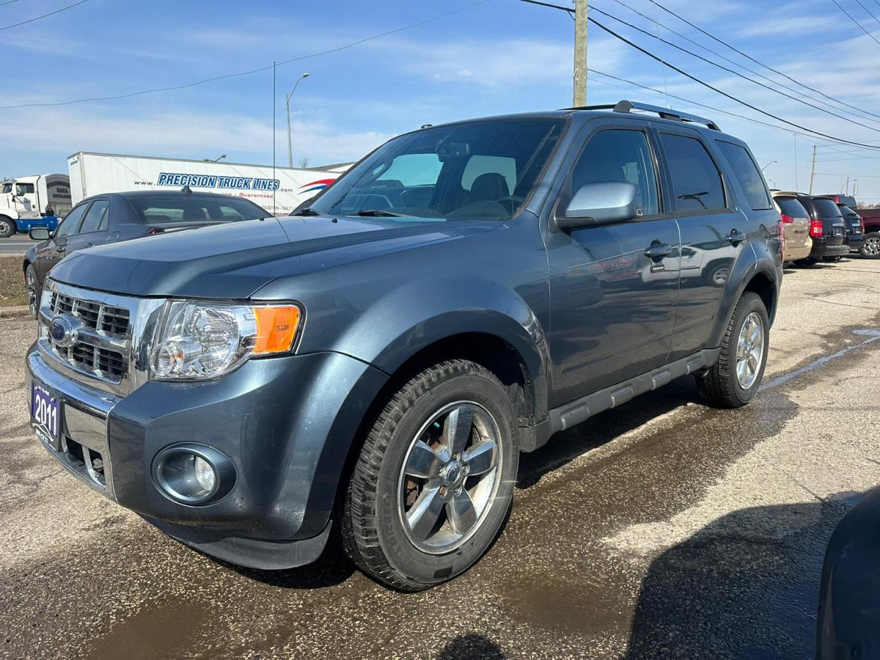
<path fill-rule="evenodd" d="M 662 215 L 656 157 L 640 125 L 607 124 L 590 135 L 559 207 L 584 184 L 608 181 L 639 188 L 640 216 L 547 235 L 553 406 L 661 366 L 670 349 L 678 225 Z"/>

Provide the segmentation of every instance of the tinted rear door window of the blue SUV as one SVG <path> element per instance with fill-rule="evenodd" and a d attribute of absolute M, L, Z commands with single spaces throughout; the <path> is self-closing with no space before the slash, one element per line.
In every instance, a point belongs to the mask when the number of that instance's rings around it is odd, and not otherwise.
<path fill-rule="evenodd" d="M 700 140 L 661 133 L 660 142 L 669 165 L 675 209 L 726 209 L 721 174 Z"/>

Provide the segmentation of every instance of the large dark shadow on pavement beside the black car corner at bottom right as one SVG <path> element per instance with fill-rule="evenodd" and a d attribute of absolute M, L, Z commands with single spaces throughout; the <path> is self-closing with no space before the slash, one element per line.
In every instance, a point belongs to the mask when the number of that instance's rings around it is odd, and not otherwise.
<path fill-rule="evenodd" d="M 825 546 L 861 498 L 737 510 L 656 557 L 627 660 L 813 657 Z"/>

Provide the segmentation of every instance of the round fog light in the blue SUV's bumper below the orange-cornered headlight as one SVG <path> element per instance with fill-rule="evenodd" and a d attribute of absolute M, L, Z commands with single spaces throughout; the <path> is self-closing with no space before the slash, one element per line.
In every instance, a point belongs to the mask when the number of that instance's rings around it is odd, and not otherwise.
<path fill-rule="evenodd" d="M 153 459 L 153 481 L 159 491 L 183 504 L 220 500 L 235 486 L 235 467 L 229 458 L 204 444 L 174 444 Z"/>

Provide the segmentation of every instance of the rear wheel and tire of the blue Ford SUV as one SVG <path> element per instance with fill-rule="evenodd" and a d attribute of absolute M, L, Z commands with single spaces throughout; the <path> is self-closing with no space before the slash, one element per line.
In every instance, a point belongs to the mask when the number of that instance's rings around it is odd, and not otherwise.
<path fill-rule="evenodd" d="M 760 349 L 760 355 L 756 356 L 752 350 L 744 352 L 754 358 L 743 365 L 739 358 L 738 348 L 744 340 L 744 334 L 752 335 L 748 330 L 744 333 L 746 322 L 759 323 L 759 341 L 753 336 L 745 337 L 746 346 L 754 346 L 754 350 Z M 730 317 L 727 330 L 721 343 L 721 354 L 718 361 L 705 374 L 697 377 L 700 386 L 700 394 L 711 403 L 719 407 L 738 408 L 751 401 L 764 378 L 766 368 L 767 347 L 770 341 L 770 321 L 767 318 L 766 307 L 757 293 L 746 291 L 737 301 L 733 315 Z M 750 341 L 751 340 L 751 341 Z"/>

